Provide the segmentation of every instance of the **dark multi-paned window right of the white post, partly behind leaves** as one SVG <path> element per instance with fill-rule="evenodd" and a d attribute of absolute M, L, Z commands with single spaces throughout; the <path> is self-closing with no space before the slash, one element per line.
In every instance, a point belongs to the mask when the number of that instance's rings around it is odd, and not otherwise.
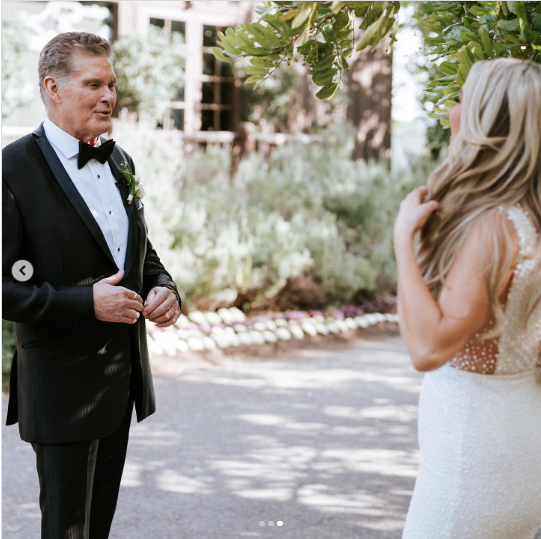
<path fill-rule="evenodd" d="M 233 131 L 235 79 L 231 64 L 223 63 L 212 54 L 218 32 L 225 27 L 203 26 L 203 73 L 201 74 L 201 130 Z"/>

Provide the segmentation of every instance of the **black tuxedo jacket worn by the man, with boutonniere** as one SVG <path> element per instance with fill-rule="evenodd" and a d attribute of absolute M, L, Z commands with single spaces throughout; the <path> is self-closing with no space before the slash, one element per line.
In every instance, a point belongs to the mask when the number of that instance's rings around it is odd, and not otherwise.
<path fill-rule="evenodd" d="M 64 443 L 113 433 L 128 404 L 137 421 L 156 410 L 145 318 L 103 322 L 93 285 L 117 273 L 105 237 L 45 136 L 43 124 L 2 151 L 2 317 L 15 322 L 7 425 L 27 442 Z M 109 158 L 129 219 L 124 277 L 116 286 L 146 300 L 154 286 L 178 291 L 148 239 L 144 207 L 128 204 L 118 170 L 135 167 L 118 145 Z M 13 278 L 17 260 L 33 276 Z"/>

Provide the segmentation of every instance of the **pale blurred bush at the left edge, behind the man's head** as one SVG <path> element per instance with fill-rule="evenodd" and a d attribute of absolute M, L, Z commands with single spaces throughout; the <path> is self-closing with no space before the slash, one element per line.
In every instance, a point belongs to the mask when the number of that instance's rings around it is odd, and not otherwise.
<path fill-rule="evenodd" d="M 2 119 L 26 105 L 31 96 L 25 92 L 29 59 L 30 29 L 22 16 L 2 17 Z"/>

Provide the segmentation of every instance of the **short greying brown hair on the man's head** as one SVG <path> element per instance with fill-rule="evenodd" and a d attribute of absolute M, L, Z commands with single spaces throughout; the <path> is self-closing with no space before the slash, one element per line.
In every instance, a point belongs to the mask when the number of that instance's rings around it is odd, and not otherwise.
<path fill-rule="evenodd" d="M 75 73 L 71 63 L 72 55 L 82 52 L 94 56 L 111 58 L 111 43 L 103 37 L 88 32 L 64 32 L 53 37 L 39 55 L 38 75 L 41 100 L 47 108 L 47 94 L 43 81 L 45 77 L 53 77 L 64 82 Z"/>

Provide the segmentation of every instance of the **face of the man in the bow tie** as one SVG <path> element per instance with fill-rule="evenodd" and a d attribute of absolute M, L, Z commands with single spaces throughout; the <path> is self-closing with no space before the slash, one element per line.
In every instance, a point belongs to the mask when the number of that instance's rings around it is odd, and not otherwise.
<path fill-rule="evenodd" d="M 111 129 L 116 76 L 106 56 L 77 53 L 71 61 L 75 72 L 59 86 L 57 111 L 64 130 L 91 142 Z"/>

